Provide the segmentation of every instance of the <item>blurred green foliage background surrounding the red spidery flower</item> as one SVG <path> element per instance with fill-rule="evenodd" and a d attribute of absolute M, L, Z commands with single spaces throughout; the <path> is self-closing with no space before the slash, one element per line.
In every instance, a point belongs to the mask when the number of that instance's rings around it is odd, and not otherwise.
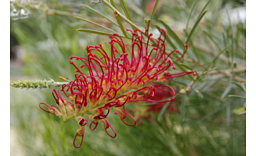
<path fill-rule="evenodd" d="M 114 2 L 123 13 L 119 1 Z M 11 82 L 44 78 L 60 81 L 59 76 L 74 78 L 69 63 L 71 55 L 84 57 L 87 45 L 102 43 L 107 47 L 107 36 L 76 31 L 106 30 L 73 16 L 122 33 L 110 21 L 80 4 L 115 21 L 107 6 L 90 4 L 89 0 L 11 1 Z M 144 18 L 150 18 L 154 0 L 127 0 L 126 4 L 133 22 L 144 28 Z M 161 18 L 183 43 L 198 16 L 207 10 L 188 41 L 186 58 L 177 67 L 177 70 L 193 68 L 201 77 L 187 94 L 175 101 L 178 113 L 166 110 L 159 118 L 159 111 L 146 112 L 151 119 L 139 118 L 135 127 L 125 126 L 110 115 L 117 138 L 110 138 L 102 128 L 95 131 L 86 128 L 84 143 L 76 149 L 73 147 L 76 121 L 63 122 L 38 107 L 41 101 L 53 104 L 50 89 L 11 87 L 11 155 L 245 155 L 245 7 L 242 0 L 159 1 L 150 32 L 154 36 L 159 34 L 155 24 L 166 30 L 159 21 Z M 130 28 L 123 24 L 124 28 Z M 178 47 L 173 37 L 169 34 Z M 169 50 L 173 49 L 166 44 Z M 193 77 L 186 76 L 167 83 L 179 91 L 191 82 Z"/>

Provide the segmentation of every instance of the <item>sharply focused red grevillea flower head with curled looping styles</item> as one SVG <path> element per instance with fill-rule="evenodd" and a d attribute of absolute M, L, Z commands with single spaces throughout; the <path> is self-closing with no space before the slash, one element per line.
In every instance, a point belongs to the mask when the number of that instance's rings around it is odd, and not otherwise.
<path fill-rule="evenodd" d="M 76 118 L 80 128 L 75 134 L 74 146 L 77 137 L 83 139 L 85 126 L 90 120 L 90 130 L 95 130 L 101 122 L 107 135 L 114 138 L 117 133 L 107 121 L 110 108 L 114 108 L 120 120 L 127 126 L 135 126 L 135 119 L 127 113 L 125 104 L 134 101 L 147 101 L 166 103 L 173 101 L 174 89 L 166 85 L 155 85 L 153 82 L 164 82 L 174 77 L 181 77 L 191 72 L 171 74 L 167 69 L 175 69 L 174 62 L 169 57 L 178 50 L 166 54 L 164 30 L 157 38 L 157 46 L 151 48 L 149 39 L 144 38 L 137 30 L 129 30 L 132 33 L 132 44 L 125 44 L 122 38 L 113 34 L 110 36 L 110 53 L 106 52 L 102 45 L 87 46 L 87 57 L 70 57 L 70 64 L 75 67 L 75 79 L 68 84 L 63 84 L 61 91 L 68 98 L 65 99 L 60 91 L 53 89 L 53 97 L 57 105 L 41 103 L 39 106 L 50 114 L 55 114 L 67 120 Z M 176 61 L 181 60 L 187 51 Z M 79 67 L 73 60 L 80 60 Z M 168 100 L 154 99 L 155 92 L 164 91 L 170 97 Z M 48 110 L 41 105 L 48 106 Z M 85 119 L 85 118 L 87 119 Z M 127 123 L 126 118 L 131 118 L 133 123 Z M 112 130 L 112 132 L 110 132 Z"/>

